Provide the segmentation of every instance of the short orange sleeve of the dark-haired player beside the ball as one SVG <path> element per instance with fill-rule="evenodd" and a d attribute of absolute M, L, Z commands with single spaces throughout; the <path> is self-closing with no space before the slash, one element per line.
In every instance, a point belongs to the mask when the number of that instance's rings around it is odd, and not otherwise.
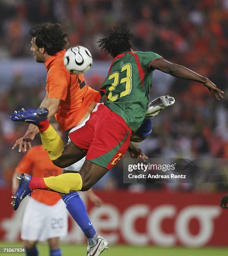
<path fill-rule="evenodd" d="M 66 100 L 69 74 L 62 68 L 53 67 L 48 72 L 48 97 Z M 47 87 L 46 87 L 47 88 Z"/>

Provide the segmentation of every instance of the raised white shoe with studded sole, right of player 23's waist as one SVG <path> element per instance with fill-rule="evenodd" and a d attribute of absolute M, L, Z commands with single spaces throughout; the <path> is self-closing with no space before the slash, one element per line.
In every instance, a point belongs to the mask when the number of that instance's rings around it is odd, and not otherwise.
<path fill-rule="evenodd" d="M 148 104 L 147 114 L 145 118 L 153 118 L 157 115 L 161 110 L 172 106 L 175 103 L 175 98 L 169 95 L 160 96 L 155 100 L 152 100 Z"/>

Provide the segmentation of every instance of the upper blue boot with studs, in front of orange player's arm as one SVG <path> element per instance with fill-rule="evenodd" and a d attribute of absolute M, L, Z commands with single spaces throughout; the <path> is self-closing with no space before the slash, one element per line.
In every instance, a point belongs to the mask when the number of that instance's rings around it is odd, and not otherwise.
<path fill-rule="evenodd" d="M 10 118 L 15 122 L 25 122 L 37 125 L 48 118 L 48 109 L 42 106 L 40 108 L 27 110 L 22 108 L 19 111 L 14 111 Z"/>

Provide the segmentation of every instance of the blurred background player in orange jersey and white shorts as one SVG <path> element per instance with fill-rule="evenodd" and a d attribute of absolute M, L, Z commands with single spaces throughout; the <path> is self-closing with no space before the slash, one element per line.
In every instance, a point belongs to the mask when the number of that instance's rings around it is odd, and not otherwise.
<path fill-rule="evenodd" d="M 27 173 L 34 177 L 49 177 L 61 174 L 62 169 L 54 165 L 48 157 L 48 152 L 42 145 L 34 146 L 19 162 L 13 175 L 13 194 L 18 182 L 15 177 Z M 87 192 L 89 200 L 97 207 L 101 199 L 90 189 Z M 48 241 L 50 256 L 61 256 L 59 238 L 66 236 L 68 230 L 66 205 L 60 195 L 51 191 L 36 190 L 25 208 L 22 221 L 21 239 L 26 248 L 27 256 L 38 256 L 36 244 L 38 241 Z"/>

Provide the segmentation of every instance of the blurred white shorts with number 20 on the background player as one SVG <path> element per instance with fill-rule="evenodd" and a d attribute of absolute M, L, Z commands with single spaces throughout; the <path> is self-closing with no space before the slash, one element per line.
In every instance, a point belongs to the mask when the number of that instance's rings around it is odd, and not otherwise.
<path fill-rule="evenodd" d="M 50 206 L 30 198 L 22 220 L 21 239 L 46 241 L 49 238 L 64 237 L 68 230 L 67 216 L 63 200 Z"/>

